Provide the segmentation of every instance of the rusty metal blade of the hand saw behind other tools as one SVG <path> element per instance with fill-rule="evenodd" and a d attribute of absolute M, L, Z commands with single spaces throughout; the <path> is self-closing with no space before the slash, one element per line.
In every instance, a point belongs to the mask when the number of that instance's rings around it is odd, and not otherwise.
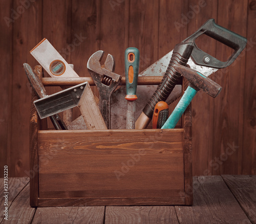
<path fill-rule="evenodd" d="M 168 67 L 170 58 L 172 56 L 173 50 L 164 55 L 162 58 L 154 62 L 152 65 L 148 66 L 144 71 L 142 71 L 138 76 L 139 77 L 152 77 L 152 76 L 164 76 L 165 71 Z M 188 60 L 187 64 L 190 65 L 191 68 L 196 69 L 197 71 L 210 75 L 215 73 L 218 69 L 209 68 L 206 66 L 196 65 L 191 58 Z M 137 95 L 140 96 L 136 102 L 136 111 L 135 117 L 136 120 L 142 113 L 142 110 L 146 104 L 151 99 L 151 96 L 154 94 L 157 85 L 139 85 L 137 87 Z M 113 92 L 111 95 L 111 128 L 113 129 L 125 129 L 126 123 L 123 122 L 126 119 L 126 109 L 127 103 L 123 98 L 126 96 L 126 88 L 125 86 L 119 86 L 119 88 Z M 181 97 L 181 85 L 176 84 L 172 93 L 168 96 L 165 102 L 167 104 L 173 103 L 175 100 Z"/>

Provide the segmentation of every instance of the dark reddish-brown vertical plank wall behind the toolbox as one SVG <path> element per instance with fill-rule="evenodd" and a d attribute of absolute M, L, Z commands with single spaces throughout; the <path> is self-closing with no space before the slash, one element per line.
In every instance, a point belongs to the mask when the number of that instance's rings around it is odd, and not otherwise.
<path fill-rule="evenodd" d="M 29 51 L 42 38 L 80 76 L 89 76 L 87 61 L 97 50 L 112 54 L 115 72 L 123 74 L 127 47 L 140 50 L 142 71 L 209 18 L 248 44 L 229 68 L 211 75 L 221 94 L 193 100 L 193 174 L 256 174 L 256 1 L 1 0 L 0 17 L 0 177 L 4 165 L 9 176 L 29 173 L 31 87 L 23 63 L 38 64 Z M 231 54 L 209 38 L 198 46 L 222 60 Z"/>

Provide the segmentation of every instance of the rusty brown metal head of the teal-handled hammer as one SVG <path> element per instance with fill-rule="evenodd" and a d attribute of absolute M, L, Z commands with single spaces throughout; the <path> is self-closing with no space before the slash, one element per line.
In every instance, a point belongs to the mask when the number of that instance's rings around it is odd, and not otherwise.
<path fill-rule="evenodd" d="M 202 89 L 202 91 L 211 97 L 217 97 L 221 92 L 222 87 L 202 73 L 180 64 L 175 64 L 174 68 L 178 73 L 184 76 L 194 88 L 198 90 Z"/>

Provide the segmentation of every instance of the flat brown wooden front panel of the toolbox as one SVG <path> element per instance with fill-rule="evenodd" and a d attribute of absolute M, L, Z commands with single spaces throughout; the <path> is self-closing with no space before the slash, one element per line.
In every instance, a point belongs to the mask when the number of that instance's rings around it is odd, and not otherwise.
<path fill-rule="evenodd" d="M 40 130 L 39 198 L 182 198 L 183 144 L 184 129 Z"/>

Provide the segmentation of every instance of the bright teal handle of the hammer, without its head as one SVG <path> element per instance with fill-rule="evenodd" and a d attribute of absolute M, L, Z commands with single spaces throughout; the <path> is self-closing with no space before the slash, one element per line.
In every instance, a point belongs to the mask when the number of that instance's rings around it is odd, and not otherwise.
<path fill-rule="evenodd" d="M 161 129 L 174 128 L 180 120 L 182 114 L 185 112 L 187 106 L 197 94 L 197 90 L 191 86 L 188 86 L 179 103 L 175 107 L 173 113 L 169 116 Z"/>

